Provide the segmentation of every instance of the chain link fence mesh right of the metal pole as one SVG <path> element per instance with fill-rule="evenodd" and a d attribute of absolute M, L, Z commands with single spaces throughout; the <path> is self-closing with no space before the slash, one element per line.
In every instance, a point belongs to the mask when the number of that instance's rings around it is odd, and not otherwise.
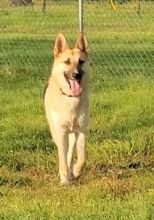
<path fill-rule="evenodd" d="M 94 69 L 121 76 L 153 72 L 153 2 L 95 1 L 84 7 Z"/>

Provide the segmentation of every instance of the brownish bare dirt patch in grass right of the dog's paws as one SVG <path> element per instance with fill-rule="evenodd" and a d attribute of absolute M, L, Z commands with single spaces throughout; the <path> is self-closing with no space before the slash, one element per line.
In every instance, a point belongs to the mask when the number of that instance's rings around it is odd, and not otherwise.
<path fill-rule="evenodd" d="M 100 179 L 102 188 L 120 195 L 140 191 L 142 189 L 140 178 L 149 172 L 154 172 L 153 157 L 142 160 L 135 158 L 117 166 L 97 163 L 90 171 L 95 179 Z"/>

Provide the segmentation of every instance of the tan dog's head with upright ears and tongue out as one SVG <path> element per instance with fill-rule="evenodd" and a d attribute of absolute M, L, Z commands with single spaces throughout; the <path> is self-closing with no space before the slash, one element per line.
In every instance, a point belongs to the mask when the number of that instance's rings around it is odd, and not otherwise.
<path fill-rule="evenodd" d="M 63 94 L 80 96 L 88 80 L 87 39 L 83 33 L 73 49 L 63 34 L 57 35 L 52 75 Z"/>

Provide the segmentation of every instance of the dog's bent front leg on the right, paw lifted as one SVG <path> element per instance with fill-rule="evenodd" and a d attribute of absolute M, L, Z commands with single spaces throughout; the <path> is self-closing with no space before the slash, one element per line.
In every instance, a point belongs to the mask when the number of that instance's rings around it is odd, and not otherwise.
<path fill-rule="evenodd" d="M 73 175 L 75 178 L 78 178 L 81 175 L 81 171 L 86 162 L 86 152 L 85 152 L 85 134 L 80 132 L 77 135 L 77 162 L 73 167 Z"/>

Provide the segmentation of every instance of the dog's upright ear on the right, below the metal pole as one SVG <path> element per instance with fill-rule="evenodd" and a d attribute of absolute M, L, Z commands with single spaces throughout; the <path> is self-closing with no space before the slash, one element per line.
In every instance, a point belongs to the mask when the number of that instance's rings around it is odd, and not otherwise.
<path fill-rule="evenodd" d="M 88 42 L 84 33 L 79 33 L 75 47 L 80 49 L 82 52 L 87 52 Z"/>

